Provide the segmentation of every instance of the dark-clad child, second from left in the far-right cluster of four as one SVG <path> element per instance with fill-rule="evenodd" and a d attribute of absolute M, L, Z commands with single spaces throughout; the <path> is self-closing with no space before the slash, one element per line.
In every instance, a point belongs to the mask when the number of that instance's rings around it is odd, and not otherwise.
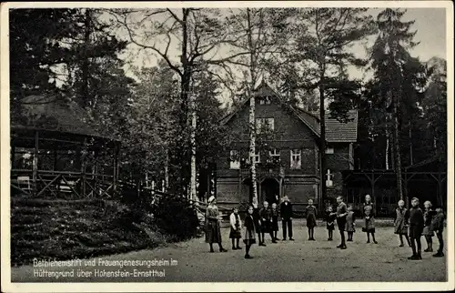
<path fill-rule="evenodd" d="M 420 260 L 421 247 L 420 237 L 422 236 L 423 230 L 423 212 L 419 207 L 419 198 L 414 197 L 410 201 L 412 207 L 410 207 L 410 245 L 412 248 L 412 256 L 408 259 Z M 416 251 L 417 244 L 417 251 Z"/>

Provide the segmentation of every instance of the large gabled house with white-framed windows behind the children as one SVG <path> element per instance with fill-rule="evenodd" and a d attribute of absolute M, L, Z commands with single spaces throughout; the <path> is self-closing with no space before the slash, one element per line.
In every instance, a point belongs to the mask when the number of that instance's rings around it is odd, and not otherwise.
<path fill-rule="evenodd" d="M 296 210 L 303 210 L 308 199 L 319 202 L 320 156 L 319 117 L 296 106 L 289 106 L 268 86 L 262 83 L 255 90 L 257 131 L 256 155 L 259 202 L 275 202 L 276 196 L 288 196 Z M 244 100 L 221 123 L 234 137 L 230 146 L 217 161 L 217 202 L 234 207 L 250 202 L 249 99 Z M 353 169 L 353 143 L 357 140 L 358 117 L 349 112 L 347 123 L 326 118 L 328 198 L 342 193 L 342 170 Z M 333 200 L 333 199 L 332 199 Z"/>

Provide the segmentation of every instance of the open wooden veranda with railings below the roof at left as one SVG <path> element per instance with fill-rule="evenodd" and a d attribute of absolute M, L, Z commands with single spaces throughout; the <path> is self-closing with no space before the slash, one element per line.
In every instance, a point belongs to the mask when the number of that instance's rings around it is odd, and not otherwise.
<path fill-rule="evenodd" d="M 120 143 L 103 136 L 11 127 L 11 194 L 112 197 Z"/>

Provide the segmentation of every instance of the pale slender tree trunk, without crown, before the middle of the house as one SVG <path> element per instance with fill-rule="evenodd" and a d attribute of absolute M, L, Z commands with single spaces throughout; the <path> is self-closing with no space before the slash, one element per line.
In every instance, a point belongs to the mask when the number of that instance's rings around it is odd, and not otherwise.
<path fill-rule="evenodd" d="M 255 53 L 256 50 L 253 46 L 253 32 L 251 27 L 250 11 L 247 8 L 247 22 L 248 22 L 248 46 L 250 51 L 250 83 L 248 85 L 248 97 L 249 97 L 249 160 L 251 163 L 251 187 L 253 192 L 252 204 L 258 207 L 258 183 L 256 178 L 256 117 L 255 117 L 255 96 L 254 86 L 256 83 L 256 61 Z"/>

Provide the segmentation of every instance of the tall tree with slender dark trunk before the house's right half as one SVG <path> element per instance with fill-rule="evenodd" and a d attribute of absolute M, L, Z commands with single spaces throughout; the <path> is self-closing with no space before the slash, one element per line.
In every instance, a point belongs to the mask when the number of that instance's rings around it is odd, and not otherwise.
<path fill-rule="evenodd" d="M 298 17 L 294 48 L 288 50 L 288 60 L 303 68 L 299 87 L 319 92 L 320 178 L 326 174 L 326 98 L 333 88 L 346 84 L 347 66 L 364 66 L 365 60 L 349 48 L 374 34 L 371 16 L 365 8 L 307 8 Z M 352 86 L 352 83 L 348 83 Z M 326 198 L 326 186 L 321 179 L 320 202 Z"/>

